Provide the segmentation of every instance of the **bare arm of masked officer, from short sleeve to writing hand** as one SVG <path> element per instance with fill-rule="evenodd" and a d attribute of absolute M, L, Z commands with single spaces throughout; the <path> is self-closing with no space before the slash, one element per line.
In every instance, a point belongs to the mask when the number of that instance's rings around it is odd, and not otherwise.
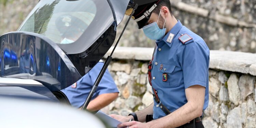
<path fill-rule="evenodd" d="M 171 114 L 149 122 L 151 127 L 175 128 L 202 115 L 205 87 L 190 86 L 185 90 L 187 103 Z"/>

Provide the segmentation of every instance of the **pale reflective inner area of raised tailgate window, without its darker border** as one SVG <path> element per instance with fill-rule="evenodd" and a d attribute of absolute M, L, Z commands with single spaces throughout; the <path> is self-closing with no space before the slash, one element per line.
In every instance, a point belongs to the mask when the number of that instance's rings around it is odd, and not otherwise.
<path fill-rule="evenodd" d="M 79 39 L 93 22 L 97 10 L 92 0 L 44 0 L 40 3 L 18 31 L 39 33 L 59 44 Z"/>

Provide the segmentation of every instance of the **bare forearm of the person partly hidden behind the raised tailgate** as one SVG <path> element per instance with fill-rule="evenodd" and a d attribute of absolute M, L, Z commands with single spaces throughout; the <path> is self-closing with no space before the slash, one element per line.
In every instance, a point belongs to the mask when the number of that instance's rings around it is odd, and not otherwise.
<path fill-rule="evenodd" d="M 101 94 L 98 97 L 96 97 L 94 100 L 90 101 L 88 104 L 87 110 L 89 111 L 97 111 L 105 106 L 109 105 L 111 102 L 113 102 L 118 97 L 118 93 L 107 93 L 107 94 Z"/>

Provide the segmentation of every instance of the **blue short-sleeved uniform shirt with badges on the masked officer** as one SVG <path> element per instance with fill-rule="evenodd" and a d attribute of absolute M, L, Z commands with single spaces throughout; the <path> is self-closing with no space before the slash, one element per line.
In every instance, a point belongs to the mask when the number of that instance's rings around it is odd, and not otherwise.
<path fill-rule="evenodd" d="M 182 43 L 179 39 L 187 41 Z M 189 40 L 189 36 L 193 39 Z M 169 42 L 168 42 L 169 41 Z M 163 105 L 170 112 L 187 103 L 185 89 L 200 85 L 205 87 L 203 110 L 209 101 L 209 60 L 210 50 L 199 35 L 190 31 L 181 22 L 178 23 L 159 41 L 154 54 L 152 66 L 152 86 Z M 163 74 L 167 74 L 167 81 Z M 154 101 L 153 118 L 158 119 L 166 114 L 157 107 Z"/>

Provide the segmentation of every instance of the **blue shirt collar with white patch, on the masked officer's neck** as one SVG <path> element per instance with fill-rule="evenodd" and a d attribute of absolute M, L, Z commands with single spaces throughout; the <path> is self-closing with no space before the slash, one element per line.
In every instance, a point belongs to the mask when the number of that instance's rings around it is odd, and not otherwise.
<path fill-rule="evenodd" d="M 168 46 L 170 46 L 170 47 L 172 46 L 172 42 L 173 42 L 174 37 L 178 34 L 178 32 L 179 32 L 179 31 L 181 30 L 181 28 L 182 28 L 182 24 L 181 24 L 180 20 L 177 20 L 177 21 L 178 21 L 178 22 L 177 22 L 177 23 L 172 27 L 172 29 L 165 35 L 165 37 L 163 37 L 163 39 L 161 39 L 161 40 L 157 40 L 156 43 L 159 43 L 160 41 L 164 41 L 165 43 L 167 43 Z M 167 39 L 168 39 L 170 33 L 174 34 L 174 37 L 173 37 L 171 43 L 167 42 Z"/>

